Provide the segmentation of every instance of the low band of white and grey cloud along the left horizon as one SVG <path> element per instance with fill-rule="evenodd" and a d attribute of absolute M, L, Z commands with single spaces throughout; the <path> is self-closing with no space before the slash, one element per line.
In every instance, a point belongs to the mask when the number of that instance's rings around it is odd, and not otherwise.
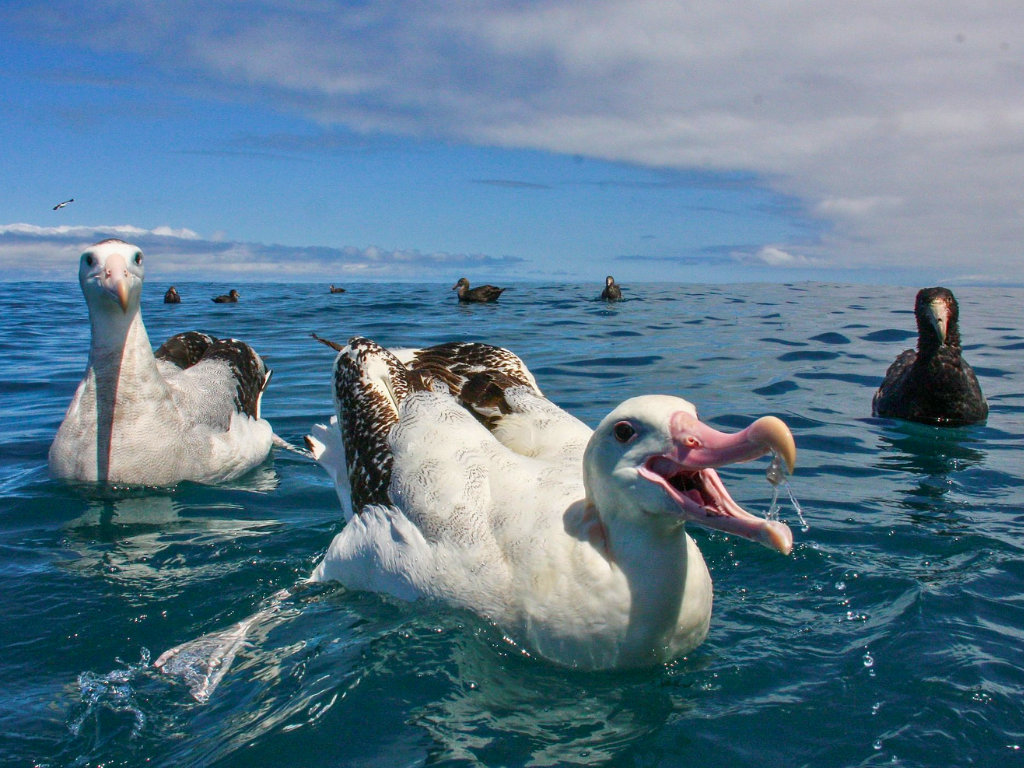
<path fill-rule="evenodd" d="M 283 246 L 206 240 L 189 229 L 158 226 L 35 226 L 0 225 L 0 274 L 8 280 L 71 280 L 78 257 L 88 246 L 106 238 L 139 246 L 150 260 L 151 276 L 175 281 L 303 282 L 335 275 L 337 280 L 451 280 L 455 271 L 476 269 L 502 273 L 515 270 L 523 259 L 506 256 L 385 251 L 369 248 Z M 156 258 L 153 258 L 156 257 Z"/>

